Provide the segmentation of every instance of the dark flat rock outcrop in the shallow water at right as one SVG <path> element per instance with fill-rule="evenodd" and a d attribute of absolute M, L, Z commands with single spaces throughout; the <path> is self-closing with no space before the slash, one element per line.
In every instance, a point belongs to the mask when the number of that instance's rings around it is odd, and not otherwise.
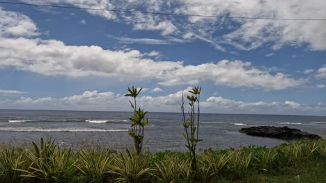
<path fill-rule="evenodd" d="M 239 132 L 259 136 L 259 137 L 272 137 L 277 139 L 322 139 L 317 134 L 310 134 L 308 132 L 302 132 L 299 129 L 275 126 L 257 126 L 249 128 L 241 128 Z"/>

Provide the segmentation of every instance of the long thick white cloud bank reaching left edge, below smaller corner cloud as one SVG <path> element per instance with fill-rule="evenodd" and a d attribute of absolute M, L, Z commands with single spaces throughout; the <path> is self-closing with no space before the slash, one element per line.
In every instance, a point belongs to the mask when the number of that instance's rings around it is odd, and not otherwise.
<path fill-rule="evenodd" d="M 100 46 L 67 46 L 57 40 L 0 37 L 0 65 L 47 76 L 155 77 L 182 62 L 155 62 L 137 50 L 111 51 Z"/>

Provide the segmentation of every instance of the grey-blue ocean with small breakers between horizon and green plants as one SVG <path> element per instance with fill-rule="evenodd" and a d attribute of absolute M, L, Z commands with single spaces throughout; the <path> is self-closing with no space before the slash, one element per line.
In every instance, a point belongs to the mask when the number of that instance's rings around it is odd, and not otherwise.
<path fill-rule="evenodd" d="M 101 147 L 114 150 L 133 148 L 128 134 L 132 112 L 91 112 L 53 110 L 0 110 L 0 141 L 22 146 L 40 138 L 55 139 L 72 148 Z M 149 112 L 143 150 L 152 153 L 185 151 L 180 113 Z M 272 125 L 298 128 L 326 138 L 326 116 L 257 114 L 201 114 L 198 149 L 242 148 L 249 145 L 277 146 L 279 139 L 251 137 L 240 128 Z"/>

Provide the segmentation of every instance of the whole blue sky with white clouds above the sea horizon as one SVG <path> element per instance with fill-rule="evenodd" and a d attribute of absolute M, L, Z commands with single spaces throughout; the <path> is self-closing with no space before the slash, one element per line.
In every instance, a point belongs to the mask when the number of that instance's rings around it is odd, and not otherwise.
<path fill-rule="evenodd" d="M 77 8 L 326 19 L 324 0 L 29 0 Z M 326 21 L 0 3 L 0 108 L 326 115 Z"/>

